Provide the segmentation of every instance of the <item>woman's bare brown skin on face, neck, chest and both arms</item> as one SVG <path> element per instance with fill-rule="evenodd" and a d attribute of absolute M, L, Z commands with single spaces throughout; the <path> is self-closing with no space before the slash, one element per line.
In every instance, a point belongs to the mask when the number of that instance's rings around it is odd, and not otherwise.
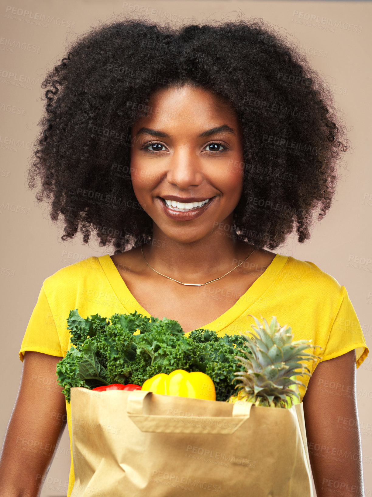
<path fill-rule="evenodd" d="M 220 99 L 205 90 L 187 86 L 156 93 L 149 107 L 153 107 L 152 114 L 142 117 L 132 128 L 131 149 L 134 192 L 154 221 L 155 243 L 145 245 L 143 251 L 157 271 L 183 282 L 205 283 L 233 269 L 252 251 L 247 244 L 237 243 L 221 232 L 212 232 L 214 221 L 231 225 L 232 213 L 241 195 L 242 172 L 229 166 L 234 164 L 229 163 L 231 159 L 243 162 L 240 125 Z M 184 121 L 171 118 L 169 110 L 175 111 L 175 115 L 190 117 L 191 122 L 187 122 L 187 118 Z M 236 135 L 225 132 L 207 139 L 197 138 L 201 132 L 223 124 L 234 129 Z M 165 131 L 170 138 L 143 135 L 137 140 L 135 135 L 144 126 Z M 213 140 L 224 142 L 230 150 L 217 155 L 205 153 L 206 145 Z M 146 154 L 141 150 L 141 146 L 150 141 L 165 144 L 163 152 Z M 205 198 L 217 195 L 218 201 L 199 218 L 180 222 L 171 220 L 159 208 L 156 197 L 166 194 Z M 180 285 L 158 275 L 147 266 L 140 248 L 112 256 L 112 259 L 129 291 L 148 313 L 176 319 L 185 331 L 190 331 L 214 321 L 230 309 L 274 256 L 267 250 L 254 252 L 248 259 L 248 270 L 235 269 L 210 283 L 209 287 L 213 285 L 221 293 L 234 290 L 234 297 L 220 301 L 203 298 L 198 287 Z M 39 495 L 40 483 L 49 470 L 66 424 L 65 400 L 56 375 L 60 360 L 61 357 L 25 352 L 20 387 L 0 456 L 0 497 Z M 364 496 L 359 430 L 340 427 L 345 426 L 344 419 L 353 419 L 354 426 L 359 426 L 355 361 L 355 350 L 351 350 L 318 364 L 303 400 L 317 497 L 339 495 L 336 492 L 341 485 L 348 485 L 344 495 Z M 50 387 L 39 388 L 39 378 Z M 350 386 L 350 395 L 336 396 L 331 389 L 320 388 L 327 381 L 344 385 L 346 389 Z M 36 447 L 49 446 L 49 449 L 22 450 L 30 440 Z M 320 444 L 321 449 L 314 450 L 315 444 Z M 353 457 L 340 457 L 341 462 L 322 457 L 333 449 Z"/>

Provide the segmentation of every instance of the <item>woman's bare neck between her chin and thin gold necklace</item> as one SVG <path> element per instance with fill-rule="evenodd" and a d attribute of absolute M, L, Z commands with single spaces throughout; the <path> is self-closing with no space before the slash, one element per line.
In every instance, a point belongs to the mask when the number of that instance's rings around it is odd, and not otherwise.
<path fill-rule="evenodd" d="M 201 240 L 179 242 L 154 226 L 152 243 L 142 249 L 146 261 L 156 271 L 185 283 L 200 283 L 227 273 L 253 250 L 251 245 L 229 234 L 213 230 Z"/>

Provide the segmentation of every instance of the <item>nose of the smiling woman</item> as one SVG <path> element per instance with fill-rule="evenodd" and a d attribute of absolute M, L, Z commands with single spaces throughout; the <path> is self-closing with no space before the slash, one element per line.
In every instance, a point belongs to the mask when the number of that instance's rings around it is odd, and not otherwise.
<path fill-rule="evenodd" d="M 175 151 L 168 165 L 166 181 L 180 189 L 198 186 L 202 183 L 201 162 L 192 153 L 191 148 Z"/>

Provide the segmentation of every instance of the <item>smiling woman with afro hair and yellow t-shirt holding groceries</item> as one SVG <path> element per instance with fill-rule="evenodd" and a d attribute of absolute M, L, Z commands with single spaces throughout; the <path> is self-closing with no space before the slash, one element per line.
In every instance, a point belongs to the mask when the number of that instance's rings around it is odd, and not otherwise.
<path fill-rule="evenodd" d="M 176 30 L 124 19 L 76 40 L 43 84 L 29 186 L 41 178 L 37 199 L 51 200 L 54 221 L 64 217 L 62 240 L 80 227 L 84 243 L 96 232 L 116 250 L 43 283 L 19 352 L 1 488 L 36 496 L 66 421 L 70 432 L 56 364 L 78 308 L 83 317 L 137 310 L 219 335 L 249 330 L 249 314 L 288 323 L 294 339 L 322 347 L 300 389 L 317 495 L 329 482 L 364 495 L 359 431 L 340 426 L 340 416 L 358 420 L 356 367 L 369 352 L 358 318 L 331 275 L 271 251 L 295 223 L 299 242 L 310 239 L 347 150 L 319 75 L 263 21 Z M 40 376 L 48 390 L 37 389 Z M 50 448 L 22 450 L 22 438 Z"/>

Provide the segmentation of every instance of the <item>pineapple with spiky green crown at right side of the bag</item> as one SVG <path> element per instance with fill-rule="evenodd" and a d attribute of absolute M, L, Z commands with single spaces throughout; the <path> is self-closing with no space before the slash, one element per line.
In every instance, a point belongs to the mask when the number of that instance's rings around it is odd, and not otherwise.
<path fill-rule="evenodd" d="M 241 380 L 235 387 L 240 390 L 227 402 L 247 401 L 256 406 L 288 408 L 294 404 L 293 397 L 296 396 L 298 400 L 295 403 L 298 404 L 300 392 L 297 385 L 304 387 L 305 385 L 296 380 L 295 370 L 301 368 L 302 375 L 311 376 L 309 368 L 300 361 L 310 357 L 316 360 L 319 356 L 303 352 L 303 350 L 317 345 L 311 345 L 311 340 L 292 342 L 291 328 L 287 325 L 281 328 L 275 316 L 272 317 L 270 325 L 265 319 L 264 324 L 261 325 L 254 316 L 249 316 L 257 325 L 257 327 L 251 326 L 258 336 L 252 335 L 249 338 L 246 334 L 242 334 L 253 357 L 248 351 L 239 349 L 246 357 L 236 356 L 235 358 L 240 359 L 241 362 L 238 364 L 245 366 L 245 370 L 234 373 L 239 376 L 233 381 Z"/>

